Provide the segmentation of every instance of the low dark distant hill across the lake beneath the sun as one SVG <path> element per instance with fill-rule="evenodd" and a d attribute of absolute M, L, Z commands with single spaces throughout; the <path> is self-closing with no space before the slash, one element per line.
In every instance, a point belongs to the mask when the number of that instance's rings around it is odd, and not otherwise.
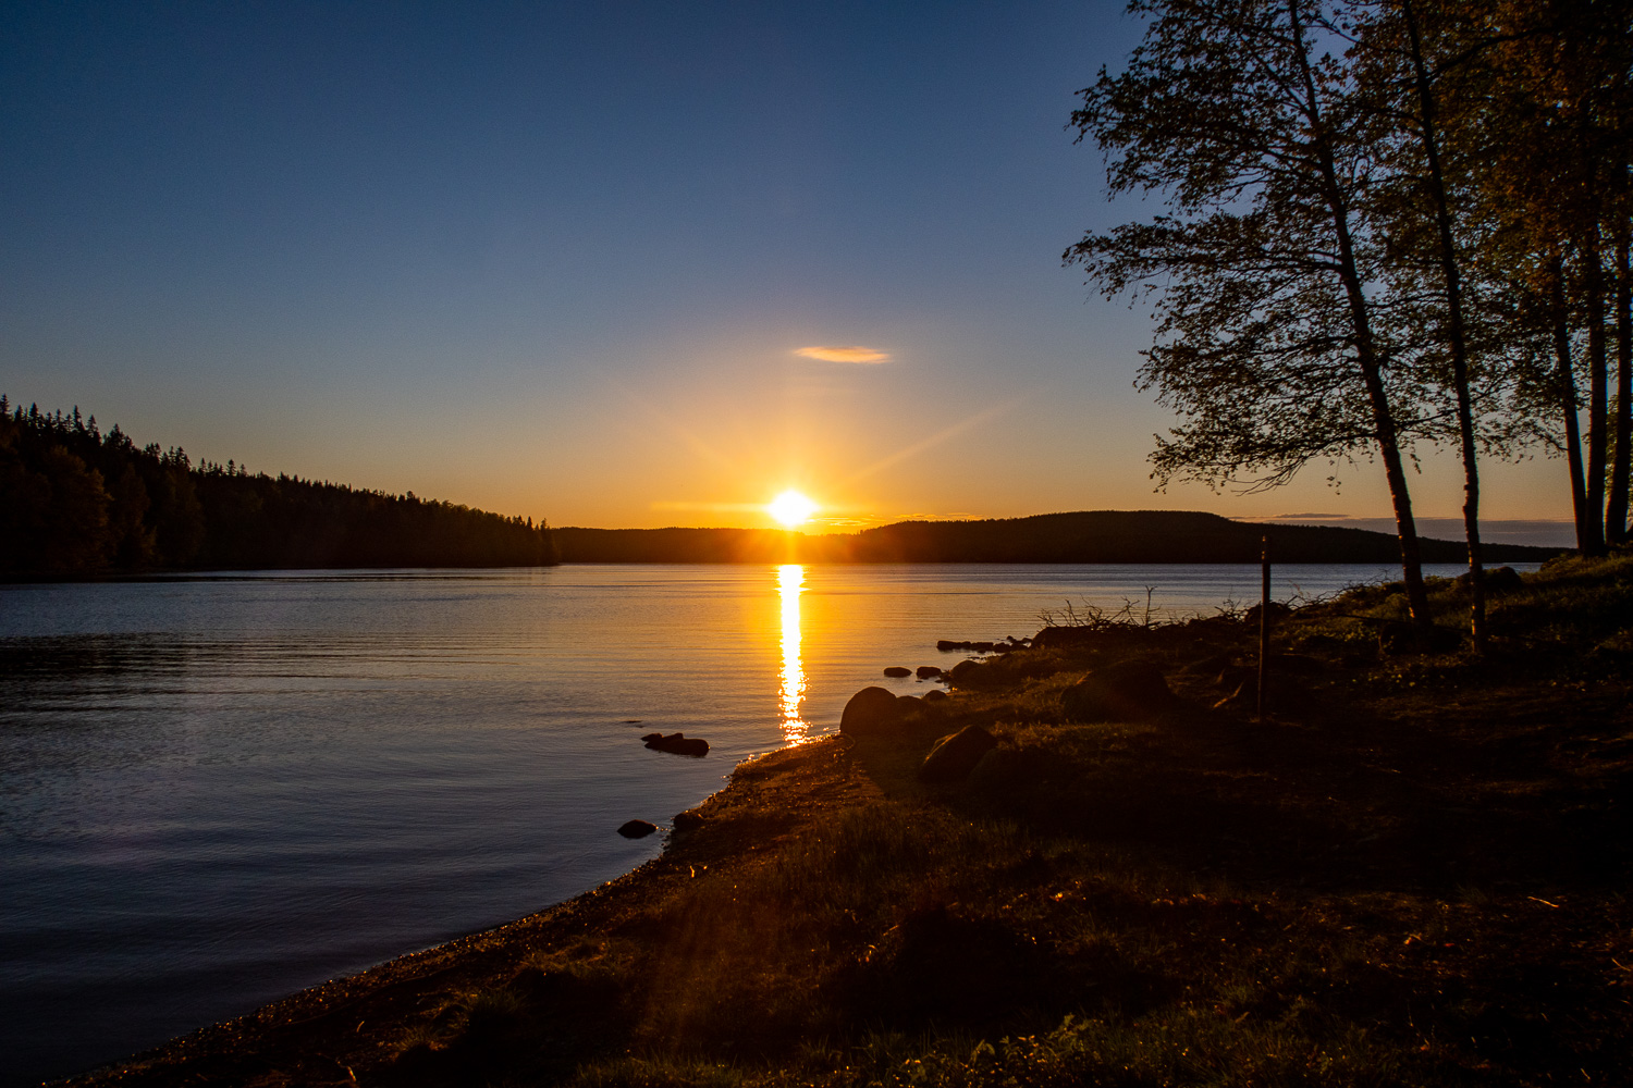
<path fill-rule="evenodd" d="M 1326 525 L 1259 525 L 1190 511 L 1083 511 L 978 522 L 898 522 L 857 533 L 761 529 L 557 529 L 563 563 L 1399 563 L 1395 537 Z M 1465 545 L 1419 538 L 1424 563 L 1462 563 Z M 1488 563 L 1558 548 L 1486 545 Z"/>

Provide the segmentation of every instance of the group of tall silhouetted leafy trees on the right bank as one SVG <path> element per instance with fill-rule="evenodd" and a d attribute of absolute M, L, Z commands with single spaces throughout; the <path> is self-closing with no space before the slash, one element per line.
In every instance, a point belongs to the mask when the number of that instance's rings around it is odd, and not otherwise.
<path fill-rule="evenodd" d="M 1476 648 L 1481 453 L 1563 455 L 1579 548 L 1626 543 L 1633 0 L 1128 10 L 1145 36 L 1070 127 L 1161 210 L 1065 259 L 1155 307 L 1159 484 L 1377 458 L 1427 625 L 1409 468 L 1450 445 Z"/>

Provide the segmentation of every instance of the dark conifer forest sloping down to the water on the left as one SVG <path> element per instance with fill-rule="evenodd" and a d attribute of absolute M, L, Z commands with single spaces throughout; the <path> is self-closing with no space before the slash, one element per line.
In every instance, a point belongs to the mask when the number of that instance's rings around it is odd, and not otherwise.
<path fill-rule="evenodd" d="M 299 476 L 193 465 L 137 447 L 80 409 L 13 408 L 0 395 L 0 573 L 537 566 L 549 527 L 467 506 Z"/>

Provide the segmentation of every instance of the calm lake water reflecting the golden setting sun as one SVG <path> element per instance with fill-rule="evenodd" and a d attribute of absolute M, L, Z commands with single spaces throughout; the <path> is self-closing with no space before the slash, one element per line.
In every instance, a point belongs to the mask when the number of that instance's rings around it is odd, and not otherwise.
<path fill-rule="evenodd" d="M 1445 573 L 1453 573 L 1448 568 Z M 1287 566 L 1326 592 L 1386 568 Z M 1249 566 L 563 566 L 0 587 L 0 1070 L 82 1072 L 658 853 L 937 638 Z M 639 724 L 629 721 L 639 719 Z M 652 729 L 707 759 L 650 752 Z"/>

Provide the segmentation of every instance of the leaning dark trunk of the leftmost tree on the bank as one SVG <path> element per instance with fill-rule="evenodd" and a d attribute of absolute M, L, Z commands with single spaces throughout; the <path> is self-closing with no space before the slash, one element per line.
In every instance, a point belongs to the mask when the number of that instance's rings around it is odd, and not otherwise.
<path fill-rule="evenodd" d="M 1339 279 L 1349 300 L 1350 328 L 1355 334 L 1355 364 L 1367 387 L 1372 405 L 1372 424 L 1383 458 L 1383 478 L 1390 484 L 1390 504 L 1395 509 L 1395 530 L 1401 542 L 1401 579 L 1406 582 L 1406 608 L 1416 628 L 1429 626 L 1429 590 L 1424 587 L 1422 551 L 1417 546 L 1417 520 L 1413 517 L 1413 498 L 1406 488 L 1406 467 L 1401 460 L 1399 429 L 1390 408 L 1388 390 L 1383 387 L 1383 367 L 1378 364 L 1377 341 L 1372 336 L 1370 305 L 1362 289 L 1360 271 L 1355 266 L 1355 241 L 1349 228 L 1349 206 L 1337 184 L 1337 166 L 1321 119 L 1321 101 L 1316 95 L 1315 75 L 1310 70 L 1310 52 L 1305 44 L 1305 28 L 1298 0 L 1287 5 L 1293 24 L 1295 51 L 1305 90 L 1305 113 L 1315 132 L 1316 158 L 1321 163 L 1321 192 L 1337 237 Z"/>

